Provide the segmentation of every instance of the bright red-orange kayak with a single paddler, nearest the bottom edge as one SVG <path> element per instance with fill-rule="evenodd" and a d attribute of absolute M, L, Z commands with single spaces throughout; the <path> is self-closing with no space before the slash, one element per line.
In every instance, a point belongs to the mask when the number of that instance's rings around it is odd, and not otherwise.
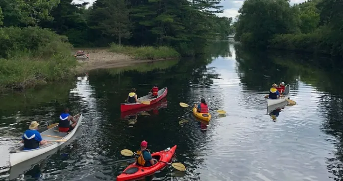
<path fill-rule="evenodd" d="M 172 160 L 172 156 L 174 155 L 176 150 L 176 145 L 173 146 L 171 149 L 166 149 L 157 153 L 151 154 L 152 158 L 170 162 Z M 154 174 L 156 171 L 161 170 L 167 166 L 167 163 L 157 162 L 152 166 L 144 167 L 136 165 L 136 162 L 130 164 L 128 167 L 125 168 L 122 174 L 117 177 L 117 181 L 130 181 L 130 180 L 139 180 L 143 179 L 149 175 Z"/>

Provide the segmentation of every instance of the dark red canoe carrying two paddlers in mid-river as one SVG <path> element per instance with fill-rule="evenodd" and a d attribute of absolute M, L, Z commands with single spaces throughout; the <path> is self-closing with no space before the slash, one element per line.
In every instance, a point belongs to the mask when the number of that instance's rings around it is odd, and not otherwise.
<path fill-rule="evenodd" d="M 165 88 L 158 91 L 158 97 L 151 98 L 151 94 L 148 94 L 146 96 L 138 98 L 138 101 L 150 101 L 149 105 L 155 104 L 156 102 L 163 99 L 163 97 L 166 97 L 167 93 L 168 93 L 168 90 L 167 90 L 167 87 L 165 87 Z M 149 105 L 143 104 L 143 103 L 122 103 L 120 105 L 120 110 L 121 110 L 121 112 L 124 112 L 124 111 L 129 111 L 129 110 L 147 107 Z"/>

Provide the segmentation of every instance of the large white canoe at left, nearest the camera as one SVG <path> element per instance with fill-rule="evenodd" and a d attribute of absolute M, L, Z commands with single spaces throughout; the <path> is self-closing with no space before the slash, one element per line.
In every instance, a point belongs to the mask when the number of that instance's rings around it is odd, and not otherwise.
<path fill-rule="evenodd" d="M 74 127 L 73 131 L 71 131 L 69 134 L 67 133 L 62 133 L 62 132 L 56 132 L 55 130 L 58 131 L 58 125 L 41 133 L 41 136 L 43 139 L 47 140 L 47 141 L 51 141 L 51 140 L 57 140 L 57 139 L 67 139 L 69 140 L 70 138 L 73 137 L 73 135 L 75 134 L 77 128 L 80 126 L 82 121 L 82 113 L 80 113 L 80 117 L 77 121 L 76 126 Z M 70 122 L 72 124 L 72 121 Z M 44 135 L 49 135 L 49 136 L 44 136 Z M 51 137 L 51 136 L 58 136 L 58 137 Z M 26 161 L 28 159 L 31 158 L 35 158 L 39 155 L 42 155 L 46 152 L 49 152 L 50 150 L 57 148 L 63 144 L 65 144 L 66 142 L 55 142 L 52 141 L 51 143 L 48 143 L 44 146 L 40 146 L 37 149 L 33 149 L 33 150 L 23 150 L 24 148 L 24 144 L 17 148 L 14 149 L 12 151 L 9 152 L 9 163 L 10 166 L 16 165 L 20 162 Z"/>

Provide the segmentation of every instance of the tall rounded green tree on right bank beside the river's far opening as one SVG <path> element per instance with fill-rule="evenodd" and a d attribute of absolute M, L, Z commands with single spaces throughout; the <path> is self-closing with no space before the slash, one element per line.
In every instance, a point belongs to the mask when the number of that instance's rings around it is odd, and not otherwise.
<path fill-rule="evenodd" d="M 266 47 L 273 35 L 297 31 L 289 0 L 245 0 L 239 13 L 235 40 L 246 45 Z"/>

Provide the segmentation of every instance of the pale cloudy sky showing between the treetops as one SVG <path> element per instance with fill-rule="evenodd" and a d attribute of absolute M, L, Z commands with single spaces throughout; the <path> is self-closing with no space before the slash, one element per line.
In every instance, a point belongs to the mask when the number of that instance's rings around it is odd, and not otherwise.
<path fill-rule="evenodd" d="M 84 2 L 90 2 L 91 4 L 95 0 L 82 0 Z M 218 16 L 226 16 L 228 18 L 235 18 L 238 15 L 238 10 L 242 6 L 244 0 L 221 0 L 221 5 L 224 6 L 224 12 L 218 14 Z M 304 2 L 305 0 L 291 0 L 291 4 Z M 74 2 L 80 2 L 79 0 L 74 0 Z"/>

